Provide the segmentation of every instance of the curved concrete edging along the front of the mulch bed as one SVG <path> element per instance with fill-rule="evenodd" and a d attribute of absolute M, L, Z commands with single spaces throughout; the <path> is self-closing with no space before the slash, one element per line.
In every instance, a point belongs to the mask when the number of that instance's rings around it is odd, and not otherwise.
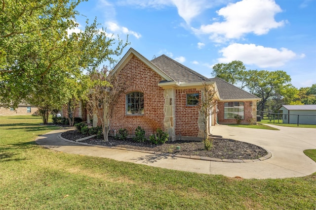
<path fill-rule="evenodd" d="M 251 162 L 258 162 L 258 161 L 263 161 L 267 160 L 272 157 L 272 154 L 270 151 L 266 150 L 268 154 L 266 154 L 263 157 L 260 157 L 258 159 L 220 159 L 220 158 L 214 158 L 214 157 L 203 157 L 203 156 L 197 156 L 197 155 L 182 155 L 182 154 L 170 154 L 170 153 L 162 153 L 162 152 L 156 152 L 156 151 L 147 151 L 147 150 L 137 150 L 137 149 L 129 149 L 129 148 L 121 148 L 121 147 L 114 147 L 114 146 L 104 146 L 104 145 L 92 145 L 88 143 L 83 143 L 83 142 L 78 142 L 72 141 L 65 139 L 61 136 L 61 134 L 58 135 L 58 138 L 66 141 L 66 142 L 71 142 L 74 144 L 78 145 L 84 145 L 84 146 L 89 146 L 89 147 L 99 147 L 99 148 L 107 148 L 107 149 L 116 149 L 116 150 L 129 150 L 129 151 L 138 151 L 138 152 L 143 152 L 143 153 L 150 153 L 150 154 L 158 154 L 158 155 L 164 155 L 164 156 L 172 156 L 172 157 L 181 157 L 181 158 L 189 158 L 189 159 L 195 159 L 195 160 L 207 160 L 207 161 L 216 161 L 216 162 L 229 162 L 229 163 L 251 163 Z M 89 139 L 89 137 L 86 137 Z M 90 137 L 92 138 L 92 137 Z"/>

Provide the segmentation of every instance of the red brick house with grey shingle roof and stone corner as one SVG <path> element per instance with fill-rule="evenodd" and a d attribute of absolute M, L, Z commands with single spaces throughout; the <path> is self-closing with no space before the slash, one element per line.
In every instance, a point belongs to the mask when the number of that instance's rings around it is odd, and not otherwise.
<path fill-rule="evenodd" d="M 236 116 L 240 116 L 243 124 L 249 123 L 251 118 L 256 122 L 260 98 L 220 78 L 208 79 L 165 55 L 148 60 L 130 48 L 113 74 L 124 78 L 126 89 L 118 99 L 111 121 L 112 131 L 126 128 L 133 135 L 135 128 L 141 126 L 146 135 L 161 128 L 171 140 L 180 136 L 183 140 L 202 137 L 204 126 L 197 103 L 204 83 L 217 90 L 218 105 L 209 126 L 236 123 Z M 97 124 L 100 122 L 94 115 L 93 125 Z"/>

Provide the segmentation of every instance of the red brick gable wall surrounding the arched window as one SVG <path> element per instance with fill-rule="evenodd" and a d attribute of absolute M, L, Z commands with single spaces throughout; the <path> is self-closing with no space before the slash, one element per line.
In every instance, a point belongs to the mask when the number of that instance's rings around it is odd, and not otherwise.
<path fill-rule="evenodd" d="M 158 86 L 161 77 L 144 62 L 133 56 L 118 73 L 126 82 L 125 93 L 118 98 L 111 130 L 126 128 L 129 134 L 135 134 L 137 126 L 146 131 L 146 136 L 154 133 L 159 127 L 163 129 L 163 89 Z M 141 91 L 144 93 L 144 115 L 126 115 L 126 93 Z"/>

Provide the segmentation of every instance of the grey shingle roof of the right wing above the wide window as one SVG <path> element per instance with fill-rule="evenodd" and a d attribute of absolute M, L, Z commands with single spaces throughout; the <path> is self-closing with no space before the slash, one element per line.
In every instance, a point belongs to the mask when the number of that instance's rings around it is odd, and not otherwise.
<path fill-rule="evenodd" d="M 231 100 L 231 99 L 259 99 L 259 97 L 237 88 L 236 86 L 226 82 L 218 77 L 211 78 L 209 81 L 216 82 L 218 93 L 221 100 Z"/>

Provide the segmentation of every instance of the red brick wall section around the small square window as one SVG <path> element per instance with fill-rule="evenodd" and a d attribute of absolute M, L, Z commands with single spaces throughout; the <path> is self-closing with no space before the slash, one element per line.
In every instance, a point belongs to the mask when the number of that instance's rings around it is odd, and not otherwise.
<path fill-rule="evenodd" d="M 197 89 L 182 89 L 176 90 L 175 97 L 175 118 L 176 135 L 181 133 L 181 136 L 197 136 L 198 135 L 198 109 L 197 106 L 187 106 L 187 93 L 198 92 L 201 97 L 200 90 Z"/>

